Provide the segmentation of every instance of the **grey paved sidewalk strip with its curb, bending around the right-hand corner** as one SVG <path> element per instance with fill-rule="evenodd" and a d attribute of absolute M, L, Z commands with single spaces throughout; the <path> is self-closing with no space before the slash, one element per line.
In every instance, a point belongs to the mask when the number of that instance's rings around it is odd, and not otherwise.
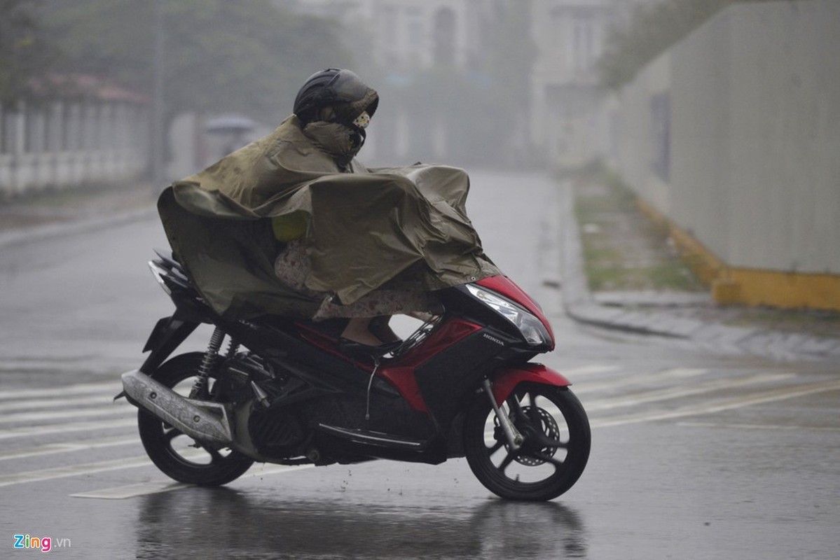
<path fill-rule="evenodd" d="M 776 332 L 749 322 L 745 311 L 714 306 L 706 293 L 590 292 L 584 272 L 580 229 L 573 210 L 570 181 L 559 185 L 565 310 L 578 322 L 596 327 L 689 341 L 716 353 L 755 355 L 789 361 L 810 359 L 840 363 L 840 338 L 810 332 Z M 743 317 L 735 317 L 738 314 Z"/>

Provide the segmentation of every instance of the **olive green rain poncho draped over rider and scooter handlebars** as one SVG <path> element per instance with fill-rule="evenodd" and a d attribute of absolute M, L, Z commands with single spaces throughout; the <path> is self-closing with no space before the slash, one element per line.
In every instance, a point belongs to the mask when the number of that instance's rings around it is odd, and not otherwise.
<path fill-rule="evenodd" d="M 292 115 L 161 194 L 171 247 L 215 311 L 244 319 L 318 310 L 321 300 L 274 273 L 283 246 L 275 217 L 307 224 L 307 288 L 344 305 L 381 286 L 439 290 L 499 274 L 466 216 L 465 171 L 352 166 L 340 173 Z"/>

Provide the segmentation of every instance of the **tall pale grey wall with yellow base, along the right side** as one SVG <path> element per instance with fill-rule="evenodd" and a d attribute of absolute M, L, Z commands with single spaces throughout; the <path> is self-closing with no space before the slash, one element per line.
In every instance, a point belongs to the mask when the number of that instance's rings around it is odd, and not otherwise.
<path fill-rule="evenodd" d="M 618 94 L 612 165 L 730 267 L 840 275 L 838 53 L 836 0 L 727 8 Z"/>

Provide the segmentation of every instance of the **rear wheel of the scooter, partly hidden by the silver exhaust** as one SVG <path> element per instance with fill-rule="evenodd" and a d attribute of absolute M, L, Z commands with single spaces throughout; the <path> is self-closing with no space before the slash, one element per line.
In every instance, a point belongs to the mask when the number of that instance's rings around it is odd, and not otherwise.
<path fill-rule="evenodd" d="M 202 353 L 176 356 L 155 371 L 154 378 L 181 394 L 189 394 L 202 363 Z M 213 389 L 213 374 L 210 389 Z M 254 463 L 253 459 L 232 449 L 213 449 L 169 424 L 139 410 L 137 424 L 140 441 L 152 463 L 179 482 L 218 486 L 238 479 Z"/>

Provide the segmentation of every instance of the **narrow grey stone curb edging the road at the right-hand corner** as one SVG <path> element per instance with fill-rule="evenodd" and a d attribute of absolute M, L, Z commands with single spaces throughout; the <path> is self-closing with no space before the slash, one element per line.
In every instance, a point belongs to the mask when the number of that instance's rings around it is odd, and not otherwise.
<path fill-rule="evenodd" d="M 576 322 L 613 331 L 690 341 L 717 351 L 761 356 L 779 361 L 840 359 L 840 340 L 805 334 L 730 327 L 669 315 L 662 309 L 628 310 L 596 301 L 586 285 L 580 233 L 572 208 L 569 181 L 559 184 L 559 208 L 555 216 L 563 222 L 560 248 L 563 253 L 563 306 Z"/>

